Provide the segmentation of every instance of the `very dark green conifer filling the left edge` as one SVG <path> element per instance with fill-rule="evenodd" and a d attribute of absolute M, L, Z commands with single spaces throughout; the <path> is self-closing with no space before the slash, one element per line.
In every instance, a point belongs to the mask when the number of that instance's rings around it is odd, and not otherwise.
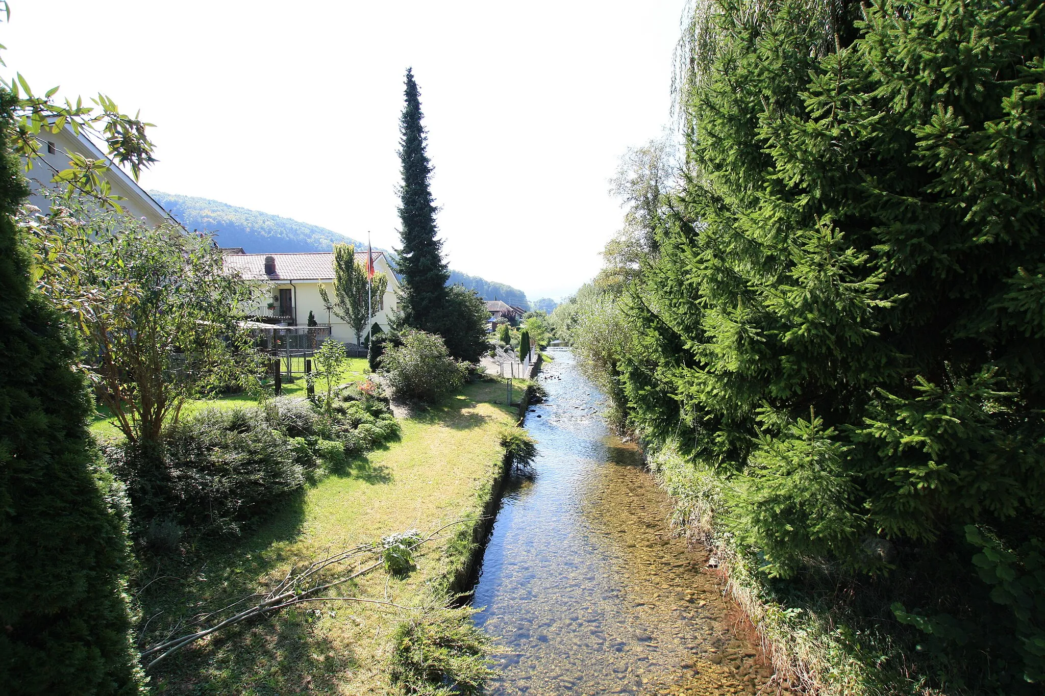
<path fill-rule="evenodd" d="M 0 689 L 134 694 L 121 496 L 97 469 L 73 334 L 30 289 L 11 106 L 0 91 Z"/>

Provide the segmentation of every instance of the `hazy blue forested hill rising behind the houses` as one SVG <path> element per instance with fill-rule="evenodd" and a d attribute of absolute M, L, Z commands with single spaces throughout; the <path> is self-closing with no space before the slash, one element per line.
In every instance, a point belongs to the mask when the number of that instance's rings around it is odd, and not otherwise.
<path fill-rule="evenodd" d="M 248 254 L 285 254 L 288 251 L 329 251 L 334 242 L 366 244 L 326 227 L 299 222 L 249 208 L 218 200 L 149 191 L 188 230 L 217 233 L 222 246 L 241 246 Z M 501 299 L 509 305 L 529 308 L 526 293 L 504 283 L 493 283 L 477 275 L 450 271 L 449 284 L 460 283 L 478 292 L 483 299 Z"/>

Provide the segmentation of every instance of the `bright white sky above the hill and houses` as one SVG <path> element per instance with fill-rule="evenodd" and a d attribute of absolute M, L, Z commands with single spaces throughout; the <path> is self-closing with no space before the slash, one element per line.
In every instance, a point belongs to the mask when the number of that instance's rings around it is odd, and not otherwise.
<path fill-rule="evenodd" d="M 381 247 L 413 66 L 451 267 L 558 299 L 621 225 L 621 154 L 671 121 L 684 0 L 9 4 L 0 44 L 34 92 L 104 92 L 158 126 L 144 188 Z"/>

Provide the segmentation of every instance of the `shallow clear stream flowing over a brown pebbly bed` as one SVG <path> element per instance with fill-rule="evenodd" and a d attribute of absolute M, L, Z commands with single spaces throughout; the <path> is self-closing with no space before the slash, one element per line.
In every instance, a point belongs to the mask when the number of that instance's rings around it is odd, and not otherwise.
<path fill-rule="evenodd" d="M 573 355 L 553 356 L 527 416 L 533 476 L 513 478 L 475 587 L 502 672 L 488 693 L 775 693 L 637 448 L 609 433 Z"/>

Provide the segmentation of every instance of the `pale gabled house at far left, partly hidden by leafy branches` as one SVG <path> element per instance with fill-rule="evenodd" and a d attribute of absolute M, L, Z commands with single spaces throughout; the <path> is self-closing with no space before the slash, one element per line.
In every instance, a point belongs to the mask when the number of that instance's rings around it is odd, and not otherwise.
<path fill-rule="evenodd" d="M 29 179 L 31 190 L 29 202 L 43 211 L 48 210 L 50 203 L 40 192 L 44 187 L 65 186 L 52 184 L 51 179 L 55 173 L 69 168 L 70 153 L 75 152 L 89 160 L 108 161 L 104 152 L 87 136 L 77 136 L 69 126 L 59 133 L 40 133 L 37 140 L 40 143 L 40 157 L 33 161 L 32 169 L 26 170 L 25 175 Z M 164 220 L 177 223 L 160 203 L 153 200 L 153 197 L 115 163 L 109 162 L 109 171 L 102 176 L 109 182 L 112 193 L 123 198 L 117 202 L 124 212 L 144 218 L 152 226 Z"/>

